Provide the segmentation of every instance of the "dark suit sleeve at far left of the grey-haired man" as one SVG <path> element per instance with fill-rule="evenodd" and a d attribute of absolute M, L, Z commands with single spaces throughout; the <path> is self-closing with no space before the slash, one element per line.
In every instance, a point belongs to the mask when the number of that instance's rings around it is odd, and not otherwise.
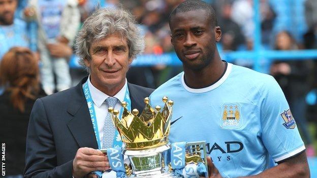
<path fill-rule="evenodd" d="M 26 137 L 24 178 L 72 177 L 73 160 L 57 166 L 56 149 L 41 99 L 37 99 L 29 120 Z"/>

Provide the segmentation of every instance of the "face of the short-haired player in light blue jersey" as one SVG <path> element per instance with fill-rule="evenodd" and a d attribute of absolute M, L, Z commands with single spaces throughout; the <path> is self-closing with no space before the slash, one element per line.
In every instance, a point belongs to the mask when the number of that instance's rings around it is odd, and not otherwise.
<path fill-rule="evenodd" d="M 200 70 L 212 61 L 220 27 L 214 27 L 204 10 L 180 12 L 170 22 L 172 44 L 183 66 Z"/>

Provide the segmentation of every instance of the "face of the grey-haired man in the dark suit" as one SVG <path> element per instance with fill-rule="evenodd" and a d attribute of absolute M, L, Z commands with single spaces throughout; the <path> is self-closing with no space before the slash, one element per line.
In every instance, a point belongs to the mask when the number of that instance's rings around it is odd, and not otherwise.
<path fill-rule="evenodd" d="M 85 60 L 90 68 L 91 83 L 103 91 L 104 87 L 113 88 L 125 82 L 125 75 L 128 72 L 129 47 L 125 39 L 114 33 L 93 43 L 89 49 L 91 60 Z"/>

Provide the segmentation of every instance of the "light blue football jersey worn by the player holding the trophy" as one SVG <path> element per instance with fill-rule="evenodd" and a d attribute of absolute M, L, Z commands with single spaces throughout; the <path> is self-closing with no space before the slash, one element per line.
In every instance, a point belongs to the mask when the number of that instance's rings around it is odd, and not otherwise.
<path fill-rule="evenodd" d="M 305 150 L 269 75 L 228 63 L 223 77 L 206 88 L 189 88 L 180 73 L 151 94 L 151 105 L 163 106 L 163 96 L 174 101 L 170 142 L 205 140 L 223 177 L 258 174 Z"/>

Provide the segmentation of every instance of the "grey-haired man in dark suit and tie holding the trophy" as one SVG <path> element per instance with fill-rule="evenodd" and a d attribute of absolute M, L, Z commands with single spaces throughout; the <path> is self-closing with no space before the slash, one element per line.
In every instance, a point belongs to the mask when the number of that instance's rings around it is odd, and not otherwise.
<path fill-rule="evenodd" d="M 84 22 L 76 45 L 79 62 L 90 75 L 76 87 L 35 102 L 24 177 L 78 178 L 108 170 L 107 156 L 96 150 L 120 144 L 108 107 L 120 111 L 120 102 L 126 101 L 131 109 L 142 111 L 143 99 L 153 91 L 125 79 L 129 64 L 144 49 L 130 13 L 96 10 Z"/>

